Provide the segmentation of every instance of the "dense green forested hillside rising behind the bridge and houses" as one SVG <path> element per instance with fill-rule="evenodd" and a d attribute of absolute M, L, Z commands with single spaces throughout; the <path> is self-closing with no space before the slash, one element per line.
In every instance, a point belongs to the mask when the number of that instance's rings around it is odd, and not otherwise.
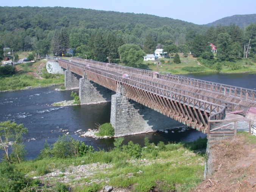
<path fill-rule="evenodd" d="M 163 48 L 170 56 L 191 52 L 214 66 L 256 52 L 256 24 L 207 28 L 148 14 L 63 7 L 0 7 L 0 12 L 0 59 L 9 47 L 12 60 L 29 51 L 32 59 L 63 54 L 137 67 L 144 55 Z M 217 47 L 215 56 L 209 43 Z"/>

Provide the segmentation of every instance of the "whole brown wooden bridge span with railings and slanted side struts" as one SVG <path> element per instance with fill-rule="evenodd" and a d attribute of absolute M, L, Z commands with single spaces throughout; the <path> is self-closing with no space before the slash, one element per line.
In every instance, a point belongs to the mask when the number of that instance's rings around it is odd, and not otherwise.
<path fill-rule="evenodd" d="M 126 97 L 206 133 L 224 131 L 220 120 L 237 123 L 240 117 L 226 111 L 245 113 L 256 106 L 255 90 L 80 58 L 58 62 L 112 91 L 120 91 L 122 84 Z"/>

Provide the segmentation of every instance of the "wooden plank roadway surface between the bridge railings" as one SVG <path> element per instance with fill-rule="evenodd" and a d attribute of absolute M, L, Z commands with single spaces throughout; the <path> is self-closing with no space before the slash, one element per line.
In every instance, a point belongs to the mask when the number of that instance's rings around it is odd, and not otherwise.
<path fill-rule="evenodd" d="M 85 64 L 86 60 L 84 59 L 70 59 L 70 61 L 79 62 L 80 64 Z M 99 67 L 98 62 L 95 63 L 89 63 L 90 67 L 94 66 L 96 68 Z M 173 75 L 175 77 L 175 81 L 173 78 L 169 78 L 169 80 L 165 80 L 166 77 L 161 78 L 163 75 L 159 75 L 158 78 L 152 78 L 154 72 L 148 72 L 148 70 L 141 70 L 141 69 L 134 69 L 130 67 L 124 67 L 124 66 L 114 66 L 114 72 L 120 73 L 120 74 L 127 74 L 130 79 L 144 82 L 150 85 L 162 87 L 163 89 L 167 89 L 169 91 L 174 91 L 180 94 L 188 95 L 190 97 L 195 97 L 201 100 L 207 100 L 212 103 L 217 103 L 219 105 L 225 105 L 228 111 L 239 111 L 244 110 L 244 112 L 247 111 L 248 108 L 251 108 L 255 106 L 256 102 L 253 102 L 252 99 L 245 99 L 244 97 L 234 97 L 234 95 L 226 95 L 224 94 L 224 91 L 217 91 L 217 89 L 209 91 L 205 88 L 198 88 L 191 86 L 190 84 L 181 84 L 179 81 L 176 80 L 176 75 Z M 100 69 L 109 70 L 109 65 L 106 65 L 106 63 L 103 63 L 103 66 L 100 66 Z M 170 74 L 168 74 L 170 76 Z M 181 78 L 178 76 L 179 79 Z M 185 78 L 188 80 L 187 78 Z M 192 81 L 195 81 L 195 79 L 191 79 Z M 208 83 L 209 84 L 209 83 Z M 225 87 L 226 85 L 220 84 L 219 86 Z M 202 87 L 202 86 L 201 86 Z M 206 86 L 203 86 L 206 87 Z M 237 87 L 236 87 L 237 89 Z M 243 89 L 243 88 L 241 88 Z"/>

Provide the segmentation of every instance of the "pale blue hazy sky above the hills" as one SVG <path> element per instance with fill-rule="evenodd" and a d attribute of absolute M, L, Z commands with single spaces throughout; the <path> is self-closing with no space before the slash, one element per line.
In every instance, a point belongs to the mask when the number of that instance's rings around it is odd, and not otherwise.
<path fill-rule="evenodd" d="M 145 13 L 195 24 L 207 24 L 233 15 L 256 14 L 256 0 L 11 0 L 2 1 L 0 6 L 61 6 Z"/>

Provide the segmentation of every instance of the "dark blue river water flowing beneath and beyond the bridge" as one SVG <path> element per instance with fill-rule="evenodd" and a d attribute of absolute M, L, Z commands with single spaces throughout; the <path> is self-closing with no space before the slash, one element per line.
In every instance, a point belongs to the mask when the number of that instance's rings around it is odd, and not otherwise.
<path fill-rule="evenodd" d="M 248 89 L 255 89 L 256 74 L 193 74 L 183 75 L 190 78 L 198 78 L 206 81 L 230 84 Z M 0 121 L 11 120 L 17 124 L 23 123 L 28 128 L 28 134 L 24 136 L 26 159 L 34 159 L 44 147 L 45 140 L 53 144 L 63 133 L 69 132 L 74 138 L 92 145 L 96 149 L 113 147 L 114 139 L 94 139 L 91 137 L 79 137 L 77 130 L 87 131 L 95 129 L 95 124 L 110 122 L 111 103 L 81 106 L 52 106 L 52 103 L 71 100 L 71 91 L 56 91 L 59 86 L 44 87 L 26 91 L 0 93 Z M 78 90 L 75 90 L 78 92 Z M 184 126 L 174 120 L 170 128 Z M 157 144 L 179 141 L 193 141 L 205 134 L 196 130 L 169 133 L 153 132 L 125 136 L 125 143 L 133 140 L 135 143 L 144 144 L 144 138 Z"/>

